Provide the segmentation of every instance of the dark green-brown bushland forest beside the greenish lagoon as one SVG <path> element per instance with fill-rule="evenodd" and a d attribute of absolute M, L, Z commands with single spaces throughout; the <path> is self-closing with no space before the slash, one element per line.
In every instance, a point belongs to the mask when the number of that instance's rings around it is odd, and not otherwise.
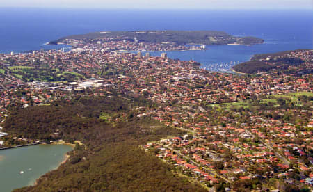
<path fill-rule="evenodd" d="M 204 191 L 172 173 L 170 165 L 138 146 L 184 134 L 132 110 L 149 105 L 135 97 L 80 97 L 72 102 L 19 109 L 11 106 L 6 131 L 26 138 L 79 140 L 70 159 L 37 185 L 15 191 Z M 99 118 L 110 114 L 111 121 Z"/>

